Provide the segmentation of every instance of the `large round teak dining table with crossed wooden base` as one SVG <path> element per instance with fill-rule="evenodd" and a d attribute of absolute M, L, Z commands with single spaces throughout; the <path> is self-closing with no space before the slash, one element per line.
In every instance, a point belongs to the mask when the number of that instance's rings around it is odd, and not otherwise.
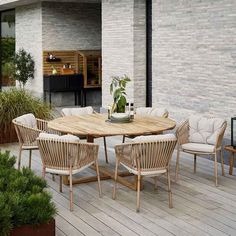
<path fill-rule="evenodd" d="M 48 122 L 50 129 L 62 133 L 86 136 L 88 142 L 93 142 L 94 138 L 115 136 L 115 135 L 147 135 L 160 134 L 165 130 L 173 129 L 175 121 L 162 117 L 144 117 L 135 115 L 130 123 L 111 123 L 107 121 L 107 114 L 91 114 L 83 116 L 64 116 Z M 101 180 L 114 178 L 114 172 L 110 168 L 99 167 Z M 130 182 L 124 177 L 130 176 L 129 172 L 119 172 L 117 181 L 133 190 L 137 189 L 137 181 Z M 73 179 L 73 184 L 97 181 L 96 176 Z M 64 184 L 68 184 L 68 178 L 63 179 Z M 142 188 L 142 187 L 141 187 Z"/>

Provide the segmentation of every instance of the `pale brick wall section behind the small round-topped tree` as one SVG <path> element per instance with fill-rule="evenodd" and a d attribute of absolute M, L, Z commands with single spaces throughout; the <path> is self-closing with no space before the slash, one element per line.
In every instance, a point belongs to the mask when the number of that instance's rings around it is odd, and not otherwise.
<path fill-rule="evenodd" d="M 16 8 L 16 51 L 24 48 L 35 60 L 35 78 L 26 88 L 35 95 L 43 93 L 42 65 L 42 11 L 41 3 Z"/>

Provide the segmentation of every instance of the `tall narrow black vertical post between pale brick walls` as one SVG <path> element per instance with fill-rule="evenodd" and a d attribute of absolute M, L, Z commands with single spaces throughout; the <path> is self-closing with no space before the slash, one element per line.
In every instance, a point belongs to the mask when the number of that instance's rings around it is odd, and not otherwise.
<path fill-rule="evenodd" d="M 152 0 L 146 0 L 146 106 L 152 106 Z"/>

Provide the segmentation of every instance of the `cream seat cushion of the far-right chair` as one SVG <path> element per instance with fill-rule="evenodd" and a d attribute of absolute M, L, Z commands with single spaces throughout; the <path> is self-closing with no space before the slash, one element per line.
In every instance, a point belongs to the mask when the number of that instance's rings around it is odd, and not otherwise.
<path fill-rule="evenodd" d="M 203 143 L 185 143 L 181 145 L 181 148 L 186 152 L 214 153 L 215 151 L 215 147 L 213 145 Z"/>

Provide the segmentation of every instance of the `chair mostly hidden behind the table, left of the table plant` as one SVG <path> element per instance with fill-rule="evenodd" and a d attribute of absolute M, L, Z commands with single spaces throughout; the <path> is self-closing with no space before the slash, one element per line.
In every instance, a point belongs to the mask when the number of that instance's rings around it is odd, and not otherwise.
<path fill-rule="evenodd" d="M 79 116 L 79 115 L 89 115 L 96 113 L 91 106 L 88 107 L 76 107 L 76 108 L 63 108 L 61 110 L 62 116 Z M 81 139 L 84 139 L 86 137 L 80 136 Z M 107 155 L 107 143 L 106 143 L 106 137 L 103 137 L 103 143 L 104 143 L 104 150 L 105 150 L 105 160 L 106 163 L 108 163 L 108 155 Z"/>

